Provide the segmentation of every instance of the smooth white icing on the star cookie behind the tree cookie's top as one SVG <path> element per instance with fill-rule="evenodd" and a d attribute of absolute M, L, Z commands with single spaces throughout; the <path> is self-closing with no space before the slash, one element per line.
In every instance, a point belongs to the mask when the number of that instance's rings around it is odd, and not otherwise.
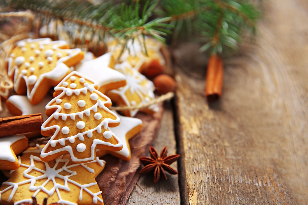
<path fill-rule="evenodd" d="M 95 80 L 99 88 L 115 82 L 125 81 L 125 76 L 109 68 L 111 53 L 106 53 L 94 60 L 84 61 L 76 65 L 76 71 Z"/>

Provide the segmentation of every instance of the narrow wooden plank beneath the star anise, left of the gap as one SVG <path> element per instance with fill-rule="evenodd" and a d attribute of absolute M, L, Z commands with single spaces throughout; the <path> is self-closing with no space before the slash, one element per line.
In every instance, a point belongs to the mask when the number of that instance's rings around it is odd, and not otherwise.
<path fill-rule="evenodd" d="M 173 112 L 169 102 L 165 103 L 164 107 L 164 115 L 153 146 L 160 152 L 167 145 L 168 154 L 171 155 L 176 153 Z M 177 169 L 176 162 L 172 164 L 172 168 Z M 154 184 L 152 175 L 141 175 L 127 204 L 180 204 L 178 176 L 168 174 L 167 177 L 167 180 L 161 180 Z"/>

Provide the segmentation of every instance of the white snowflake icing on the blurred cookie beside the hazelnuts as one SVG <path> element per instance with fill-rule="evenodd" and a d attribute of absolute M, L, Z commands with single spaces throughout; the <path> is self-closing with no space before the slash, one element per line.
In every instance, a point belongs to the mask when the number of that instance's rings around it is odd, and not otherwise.
<path fill-rule="evenodd" d="M 128 99 L 126 97 L 126 92 L 128 90 L 131 92 L 131 94 L 136 93 L 139 96 L 141 100 L 139 104 L 147 103 L 150 99 L 155 98 L 155 86 L 152 81 L 148 80 L 144 75 L 139 73 L 138 70 L 133 69 L 128 62 L 115 65 L 115 69 L 125 75 L 127 84 L 124 87 L 113 89 L 109 92 L 120 96 L 126 106 L 137 104 L 133 99 Z M 152 104 L 147 108 L 154 112 L 158 111 L 157 104 Z M 130 116 L 135 116 L 138 111 L 139 109 L 128 110 Z"/>

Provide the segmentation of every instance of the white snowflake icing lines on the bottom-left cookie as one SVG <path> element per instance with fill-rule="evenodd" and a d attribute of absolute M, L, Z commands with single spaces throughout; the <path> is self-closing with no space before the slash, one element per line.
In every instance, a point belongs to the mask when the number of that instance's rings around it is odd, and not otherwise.
<path fill-rule="evenodd" d="M 99 166 L 104 167 L 106 162 L 104 160 L 100 160 L 98 157 L 96 157 L 95 160 L 92 160 L 90 162 L 87 163 L 82 163 L 82 164 L 69 164 L 69 160 L 68 159 L 63 159 L 63 156 L 56 158 L 54 160 L 55 163 L 53 167 L 51 167 L 48 162 L 44 162 L 40 159 L 39 157 L 39 153 L 41 152 L 41 148 L 37 145 L 37 149 L 36 150 L 26 150 L 25 152 L 23 152 L 23 155 L 25 155 L 26 153 L 30 153 L 29 159 L 30 160 L 26 160 L 24 159 L 25 157 L 22 156 L 18 156 L 18 161 L 20 166 L 22 167 L 22 169 L 26 168 L 25 171 L 23 171 L 23 176 L 25 177 L 25 180 L 20 181 L 20 182 L 10 182 L 10 181 L 6 181 L 3 182 L 2 184 L 4 185 L 8 185 L 8 187 L 6 187 L 5 189 L 3 189 L 2 191 L 0 191 L 0 195 L 2 195 L 4 192 L 8 191 L 8 190 L 12 190 L 10 193 L 9 198 L 7 199 L 8 202 L 10 202 L 15 193 L 20 193 L 20 190 L 18 190 L 20 185 L 23 184 L 29 184 L 29 191 L 35 191 L 33 193 L 33 196 L 37 196 L 40 192 L 45 192 L 47 195 L 52 196 L 54 193 L 57 194 L 59 201 L 57 203 L 60 204 L 67 204 L 67 205 L 76 205 L 75 203 L 71 202 L 71 201 L 67 201 L 62 199 L 61 194 L 59 192 L 59 189 L 67 191 L 69 193 L 69 191 L 71 191 L 71 189 L 68 186 L 68 183 L 74 184 L 75 186 L 80 188 L 80 194 L 79 194 L 79 201 L 80 203 L 84 203 L 82 202 L 83 200 L 83 191 L 85 191 L 86 193 L 88 193 L 89 195 L 92 195 L 93 199 L 93 203 L 97 203 L 98 201 L 100 203 L 103 203 L 103 200 L 100 199 L 98 196 L 102 193 L 102 191 L 93 193 L 92 191 L 90 191 L 88 189 L 88 187 L 97 186 L 96 182 L 92 182 L 92 183 L 87 183 L 87 184 L 80 184 L 74 180 L 72 180 L 70 177 L 77 175 L 78 173 L 76 171 L 72 171 L 71 168 L 73 167 L 77 167 L 77 166 L 81 166 L 83 168 L 85 168 L 89 173 L 87 173 L 87 175 L 91 175 L 93 178 L 95 177 L 95 169 L 92 169 L 90 167 L 87 166 L 87 164 L 93 164 L 93 163 L 97 163 Z M 25 161 L 27 164 L 23 164 Z M 29 162 L 28 162 L 29 161 Z M 37 163 L 39 162 L 39 163 Z M 44 164 L 45 166 L 45 170 L 44 169 L 39 169 L 37 168 L 35 165 L 36 164 Z M 59 164 L 63 164 L 63 166 L 61 168 L 58 168 Z M 42 173 L 42 175 L 39 176 L 33 176 L 31 175 L 31 171 L 39 171 Z M 67 174 L 65 175 L 61 175 L 60 173 L 65 171 Z M 12 174 L 19 174 L 17 172 L 13 172 Z M 13 177 L 16 177 L 15 176 Z M 82 176 L 81 176 L 82 177 Z M 57 178 L 61 179 L 64 181 L 64 183 L 57 183 Z M 41 181 L 42 179 L 45 179 L 45 182 L 41 185 L 38 185 L 37 181 Z M 50 182 L 53 183 L 53 187 L 51 189 L 47 189 L 45 186 L 47 185 L 47 183 L 49 184 Z M 24 187 L 24 186 L 23 186 Z M 15 202 L 14 204 L 19 204 L 19 203 L 24 203 L 24 202 L 32 202 L 32 199 L 22 199 L 20 201 Z"/>

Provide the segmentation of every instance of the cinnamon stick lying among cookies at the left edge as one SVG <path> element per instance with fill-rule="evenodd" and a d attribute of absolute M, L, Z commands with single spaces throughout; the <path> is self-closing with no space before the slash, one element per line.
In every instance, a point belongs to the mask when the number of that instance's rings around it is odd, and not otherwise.
<path fill-rule="evenodd" d="M 0 118 L 0 137 L 41 130 L 41 113 Z"/>

